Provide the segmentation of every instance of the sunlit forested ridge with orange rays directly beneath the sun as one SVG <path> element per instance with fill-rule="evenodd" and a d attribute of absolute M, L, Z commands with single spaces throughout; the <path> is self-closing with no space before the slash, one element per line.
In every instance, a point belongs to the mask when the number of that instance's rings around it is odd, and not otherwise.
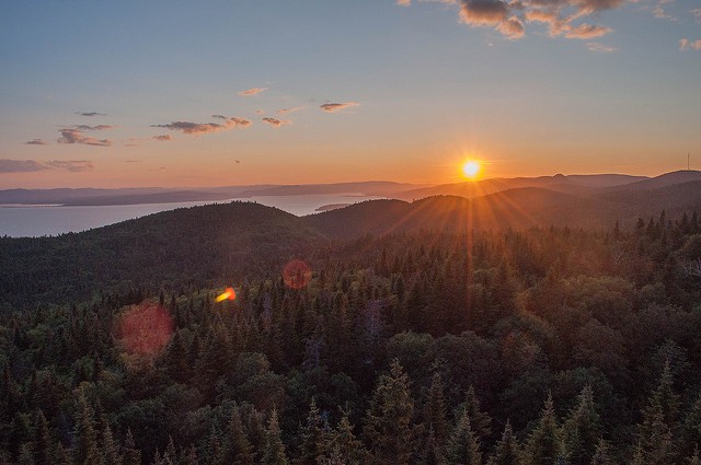
<path fill-rule="evenodd" d="M 686 181 L 686 177 L 681 177 Z M 542 187 L 520 187 L 467 199 L 433 196 L 414 202 L 368 200 L 343 209 L 304 217 L 330 237 L 353 239 L 399 231 L 466 229 L 499 230 L 531 226 L 609 229 L 617 222 L 631 229 L 662 211 L 679 220 L 701 211 L 701 181 L 651 184 L 629 190 L 587 189 L 578 195 Z M 652 187 L 650 187 L 652 186 Z M 643 186 L 644 187 L 644 186 Z"/>

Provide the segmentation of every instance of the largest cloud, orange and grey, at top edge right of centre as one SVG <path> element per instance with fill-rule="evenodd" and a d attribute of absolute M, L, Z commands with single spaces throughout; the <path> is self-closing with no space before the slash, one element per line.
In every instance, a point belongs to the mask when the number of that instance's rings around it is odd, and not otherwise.
<path fill-rule="evenodd" d="M 610 33 L 610 27 L 576 24 L 585 16 L 612 10 L 637 0 L 420 0 L 458 7 L 460 22 L 472 27 L 491 27 L 509 39 L 526 35 L 527 23 L 544 23 L 551 37 L 587 39 Z M 662 0 L 666 2 L 667 0 Z M 410 0 L 398 4 L 411 5 Z"/>

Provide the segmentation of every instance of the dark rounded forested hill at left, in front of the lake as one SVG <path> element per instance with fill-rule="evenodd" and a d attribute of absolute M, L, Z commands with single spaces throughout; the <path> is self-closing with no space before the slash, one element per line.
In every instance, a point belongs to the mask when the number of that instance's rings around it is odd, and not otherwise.
<path fill-rule="evenodd" d="M 164 211 L 56 237 L 0 237 L 0 305 L 212 286 L 271 272 L 323 241 L 294 214 L 251 202 Z"/>

